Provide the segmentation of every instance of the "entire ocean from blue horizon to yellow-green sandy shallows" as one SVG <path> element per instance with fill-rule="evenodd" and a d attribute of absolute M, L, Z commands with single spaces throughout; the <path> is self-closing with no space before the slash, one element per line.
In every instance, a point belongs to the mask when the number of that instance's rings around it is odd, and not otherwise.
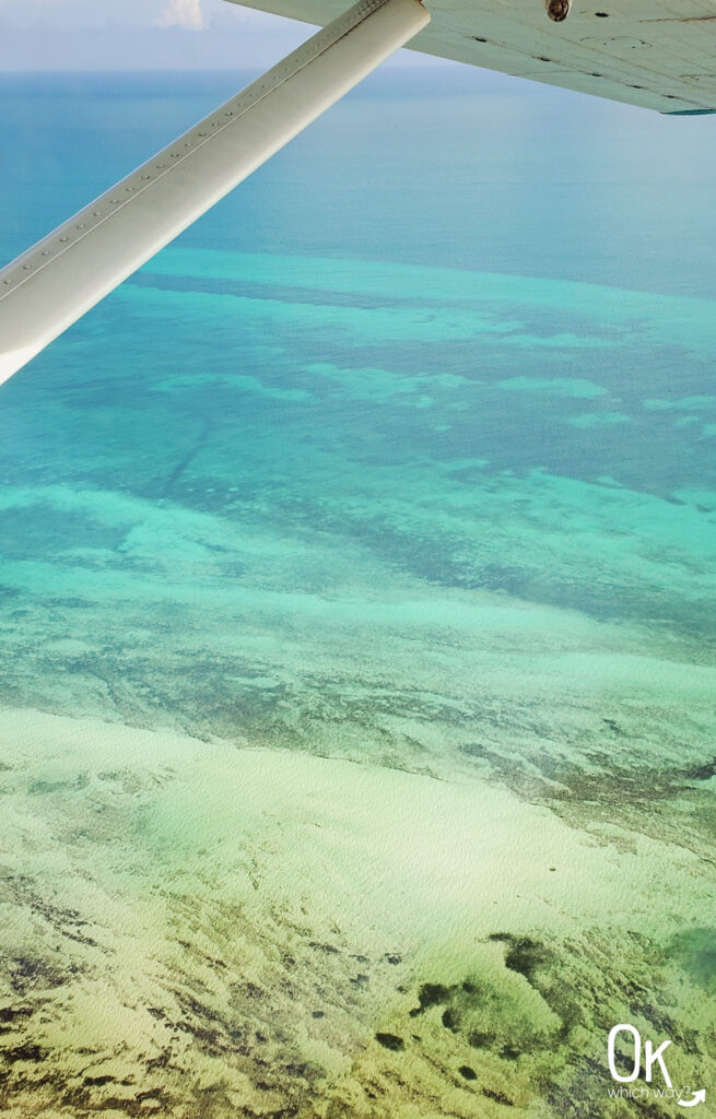
<path fill-rule="evenodd" d="M 252 76 L 0 78 L 0 256 Z M 11 1119 L 716 1091 L 715 128 L 385 69 L 2 387 Z"/>

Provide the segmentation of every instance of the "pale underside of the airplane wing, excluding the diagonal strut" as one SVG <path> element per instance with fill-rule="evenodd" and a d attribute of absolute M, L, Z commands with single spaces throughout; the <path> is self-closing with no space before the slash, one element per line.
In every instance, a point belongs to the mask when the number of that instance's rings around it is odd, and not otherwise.
<path fill-rule="evenodd" d="M 341 0 L 233 0 L 323 25 Z M 661 113 L 716 112 L 716 0 L 430 0 L 431 23 L 409 44 Z M 430 76 L 425 78 L 430 82 Z"/>

